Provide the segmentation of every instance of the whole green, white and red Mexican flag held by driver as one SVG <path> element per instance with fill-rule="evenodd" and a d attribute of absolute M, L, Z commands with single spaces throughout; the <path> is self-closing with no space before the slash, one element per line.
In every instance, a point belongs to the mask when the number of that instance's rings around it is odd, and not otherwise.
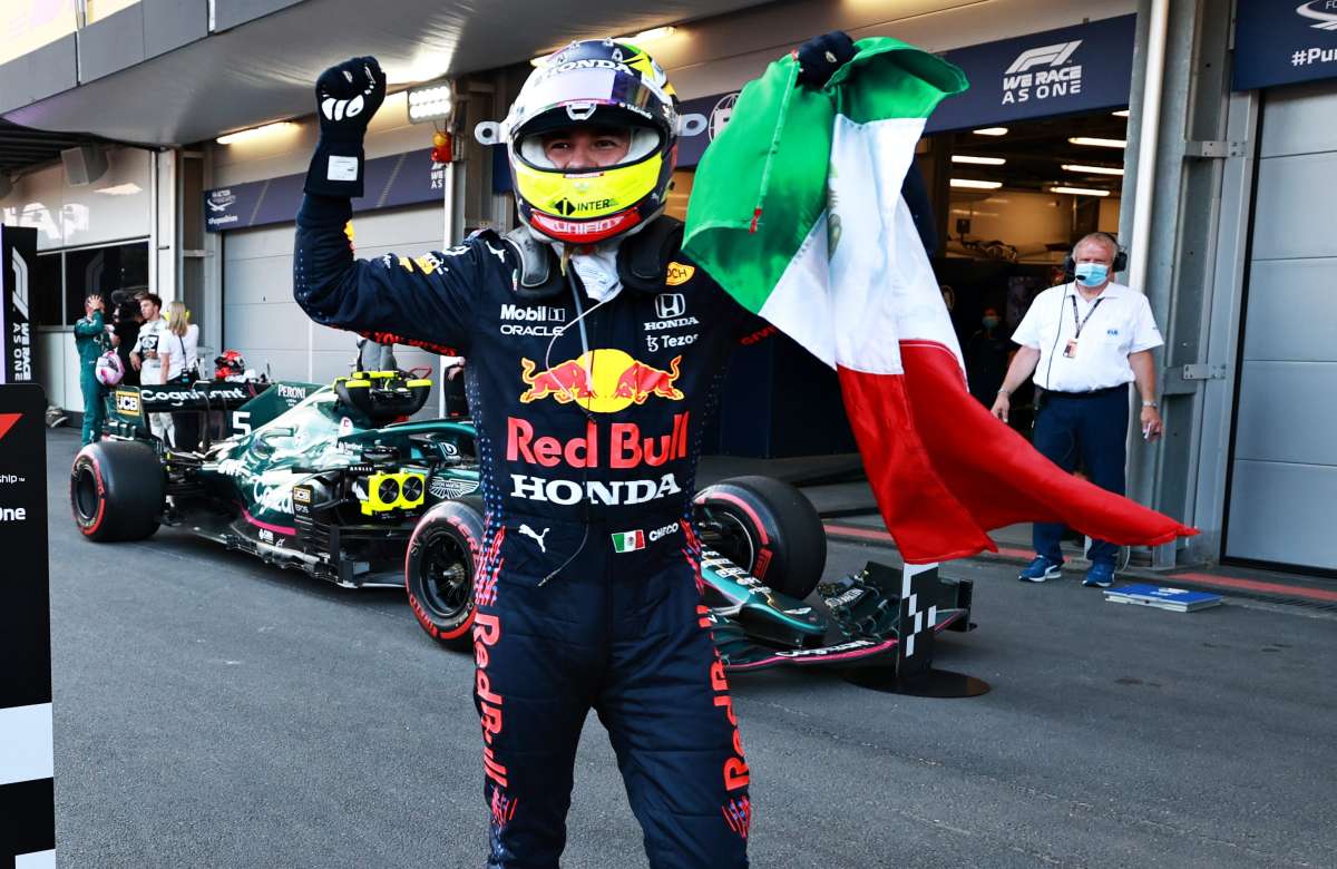
<path fill-rule="evenodd" d="M 743 88 L 697 168 L 683 250 L 834 368 L 906 562 L 996 549 L 992 528 L 1064 521 L 1118 544 L 1195 533 L 1064 473 L 967 392 L 961 349 L 901 199 L 915 143 L 960 70 L 894 39 L 822 88 L 783 57 Z"/>

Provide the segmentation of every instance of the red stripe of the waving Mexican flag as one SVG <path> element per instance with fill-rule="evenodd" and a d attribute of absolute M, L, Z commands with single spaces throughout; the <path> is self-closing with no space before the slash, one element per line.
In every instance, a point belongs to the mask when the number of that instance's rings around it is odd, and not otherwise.
<path fill-rule="evenodd" d="M 900 346 L 904 374 L 838 370 L 882 520 L 906 562 L 996 551 L 985 532 L 1020 521 L 1063 521 L 1120 545 L 1197 533 L 1038 453 L 971 397 L 947 346 Z"/>

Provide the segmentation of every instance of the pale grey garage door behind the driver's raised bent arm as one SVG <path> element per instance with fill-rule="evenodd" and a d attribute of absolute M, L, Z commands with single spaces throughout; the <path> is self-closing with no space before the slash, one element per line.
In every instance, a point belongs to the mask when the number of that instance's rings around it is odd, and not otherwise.
<path fill-rule="evenodd" d="M 357 255 L 418 255 L 441 247 L 441 209 L 424 206 L 358 217 L 353 221 Z M 227 233 L 223 238 L 223 346 L 241 350 L 247 365 L 269 366 L 274 380 L 325 384 L 348 374 L 357 358 L 357 336 L 316 325 L 293 301 L 293 233 L 285 223 Z M 400 368 L 428 365 L 437 357 L 397 346 Z M 435 378 L 435 377 L 433 377 Z M 435 414 L 437 390 L 424 410 Z"/>

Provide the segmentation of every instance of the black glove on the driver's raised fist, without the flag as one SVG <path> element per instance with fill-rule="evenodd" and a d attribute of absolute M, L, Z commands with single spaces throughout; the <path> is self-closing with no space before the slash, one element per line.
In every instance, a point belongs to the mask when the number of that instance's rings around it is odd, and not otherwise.
<path fill-rule="evenodd" d="M 306 193 L 352 199 L 362 195 L 362 138 L 385 102 L 385 74 L 376 57 L 352 57 L 316 80 L 321 140 L 306 170 Z"/>

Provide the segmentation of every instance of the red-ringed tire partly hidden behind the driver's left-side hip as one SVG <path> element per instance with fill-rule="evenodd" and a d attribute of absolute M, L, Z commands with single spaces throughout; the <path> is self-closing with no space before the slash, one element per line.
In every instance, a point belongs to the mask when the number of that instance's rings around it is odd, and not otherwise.
<path fill-rule="evenodd" d="M 409 607 L 448 648 L 473 644 L 473 571 L 483 547 L 483 499 L 441 501 L 418 520 L 404 556 Z"/>

